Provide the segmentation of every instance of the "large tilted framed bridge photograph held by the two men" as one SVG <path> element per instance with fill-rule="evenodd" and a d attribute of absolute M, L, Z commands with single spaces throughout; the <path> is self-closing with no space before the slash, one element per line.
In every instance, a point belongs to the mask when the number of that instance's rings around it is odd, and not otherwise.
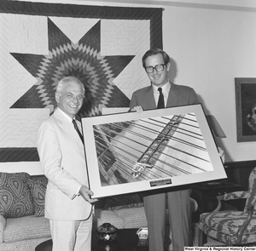
<path fill-rule="evenodd" d="M 226 178 L 201 105 L 82 118 L 93 197 Z"/>

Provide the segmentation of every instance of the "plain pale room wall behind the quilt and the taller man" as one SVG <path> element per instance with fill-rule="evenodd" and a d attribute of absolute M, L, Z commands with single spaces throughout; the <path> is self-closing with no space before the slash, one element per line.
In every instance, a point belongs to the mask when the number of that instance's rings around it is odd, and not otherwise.
<path fill-rule="evenodd" d="M 195 88 L 207 114 L 217 118 L 227 136 L 221 140 L 227 161 L 255 159 L 256 142 L 236 142 L 235 77 L 256 77 L 256 1 L 31 2 L 163 7 L 164 49 L 173 60 L 174 82 Z M 10 171 L 9 165 L 41 173 L 38 163 L 0 163 L 0 170 Z"/>

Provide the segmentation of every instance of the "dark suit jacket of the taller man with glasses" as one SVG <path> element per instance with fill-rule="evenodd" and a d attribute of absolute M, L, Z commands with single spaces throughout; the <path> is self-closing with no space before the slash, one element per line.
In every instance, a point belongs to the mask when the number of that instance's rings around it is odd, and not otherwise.
<path fill-rule="evenodd" d="M 195 90 L 188 86 L 171 83 L 166 107 L 187 106 L 198 104 Z M 138 89 L 132 94 L 130 108 L 142 106 L 143 110 L 156 109 L 152 86 Z"/>

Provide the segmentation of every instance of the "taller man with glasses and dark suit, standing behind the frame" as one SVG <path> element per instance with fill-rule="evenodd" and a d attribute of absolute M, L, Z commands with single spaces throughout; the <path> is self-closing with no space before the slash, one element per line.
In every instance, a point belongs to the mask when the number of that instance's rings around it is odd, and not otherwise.
<path fill-rule="evenodd" d="M 198 104 L 193 88 L 170 83 L 167 72 L 170 58 L 159 48 L 149 49 L 143 55 L 143 67 L 151 85 L 132 94 L 131 111 Z M 164 251 L 166 203 L 172 231 L 172 248 L 183 251 L 189 246 L 190 190 L 187 187 L 149 192 L 144 196 L 148 220 L 149 251 Z"/>

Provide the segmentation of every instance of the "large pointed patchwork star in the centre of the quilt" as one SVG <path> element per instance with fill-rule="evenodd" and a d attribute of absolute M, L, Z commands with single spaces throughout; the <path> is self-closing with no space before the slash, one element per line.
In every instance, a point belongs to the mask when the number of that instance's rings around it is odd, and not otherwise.
<path fill-rule="evenodd" d="M 49 108 L 54 111 L 55 87 L 65 76 L 78 77 L 84 84 L 81 117 L 100 115 L 102 107 L 129 106 L 130 100 L 113 80 L 134 56 L 101 55 L 101 21 L 73 43 L 48 19 L 49 54 L 12 55 L 38 80 L 10 108 Z M 95 91 L 96 86 L 100 91 Z"/>

